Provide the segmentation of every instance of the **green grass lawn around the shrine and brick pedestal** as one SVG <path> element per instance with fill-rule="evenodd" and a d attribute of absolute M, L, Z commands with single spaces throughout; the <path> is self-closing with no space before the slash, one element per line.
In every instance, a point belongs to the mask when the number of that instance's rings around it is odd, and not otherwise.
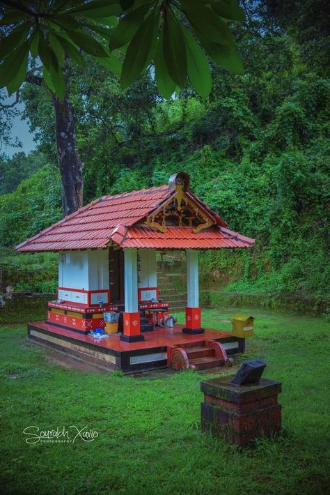
<path fill-rule="evenodd" d="M 205 310 L 203 323 L 229 329 L 233 312 Z M 1 492 L 325 494 L 330 325 L 288 313 L 253 314 L 256 335 L 245 357 L 264 358 L 265 377 L 283 381 L 283 432 L 242 451 L 200 432 L 199 388 L 207 375 L 139 380 L 72 370 L 52 365 L 50 351 L 26 342 L 25 325 L 3 326 Z M 31 425 L 76 425 L 98 437 L 28 444 L 23 429 Z"/>

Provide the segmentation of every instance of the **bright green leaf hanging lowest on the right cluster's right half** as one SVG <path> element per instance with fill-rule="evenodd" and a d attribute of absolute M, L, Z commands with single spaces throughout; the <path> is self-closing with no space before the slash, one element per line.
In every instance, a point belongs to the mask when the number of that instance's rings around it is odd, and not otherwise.
<path fill-rule="evenodd" d="M 190 80 L 199 96 L 207 98 L 212 89 L 210 67 L 203 50 L 187 29 L 183 28 Z"/>

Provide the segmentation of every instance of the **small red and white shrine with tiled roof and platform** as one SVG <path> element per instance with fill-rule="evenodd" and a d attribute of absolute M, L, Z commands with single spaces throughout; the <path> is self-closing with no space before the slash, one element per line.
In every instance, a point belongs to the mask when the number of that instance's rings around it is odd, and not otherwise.
<path fill-rule="evenodd" d="M 184 172 L 168 185 L 100 197 L 16 246 L 58 252 L 57 299 L 46 321 L 29 324 L 29 338 L 108 370 L 226 364 L 227 353 L 244 351 L 244 336 L 203 328 L 198 250 L 253 243 L 191 192 Z M 184 325 L 165 324 L 171 307 L 157 287 L 157 250 L 186 252 Z M 97 340 L 109 312 L 118 313 L 118 332 Z"/>

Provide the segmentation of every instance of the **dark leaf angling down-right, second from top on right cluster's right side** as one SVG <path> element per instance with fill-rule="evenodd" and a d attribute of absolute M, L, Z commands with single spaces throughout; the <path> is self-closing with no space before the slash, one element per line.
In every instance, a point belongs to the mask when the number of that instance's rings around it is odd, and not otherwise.
<path fill-rule="evenodd" d="M 182 7 L 194 30 L 198 29 L 203 36 L 221 45 L 235 45 L 234 37 L 226 22 L 223 22 L 209 6 L 182 0 Z"/>

